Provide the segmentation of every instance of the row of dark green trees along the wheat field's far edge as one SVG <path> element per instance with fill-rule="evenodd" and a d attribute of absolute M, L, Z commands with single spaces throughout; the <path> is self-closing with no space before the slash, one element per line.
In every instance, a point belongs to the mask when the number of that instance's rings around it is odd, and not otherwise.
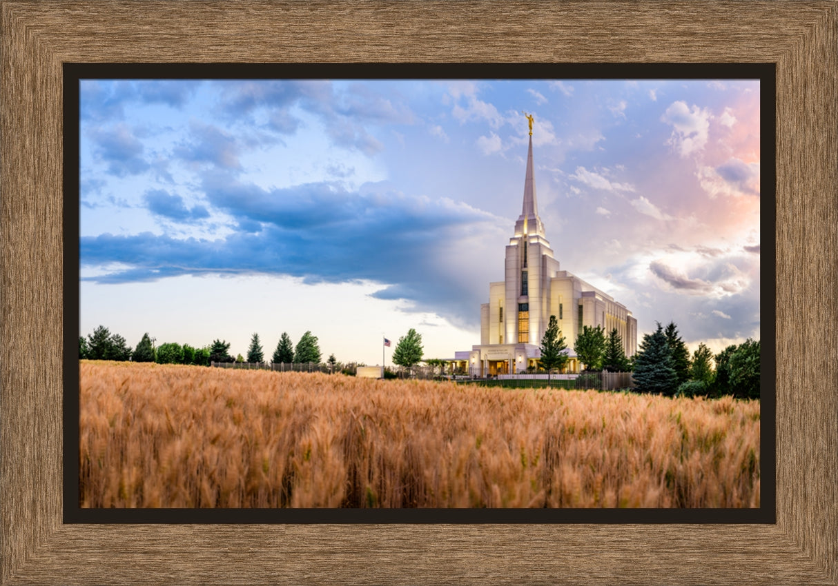
<path fill-rule="evenodd" d="M 760 342 L 747 338 L 746 342 L 727 346 L 714 355 L 701 342 L 690 356 L 689 349 L 681 339 L 678 327 L 670 321 L 665 328 L 656 322 L 655 332 L 644 334 L 639 350 L 632 357 L 623 351 L 623 340 L 617 328 L 606 336 L 603 326 L 583 326 L 577 336 L 573 350 L 587 373 L 630 372 L 634 378 L 634 390 L 640 393 L 665 396 L 706 396 L 711 398 L 732 395 L 736 398 L 760 397 Z M 79 357 L 90 360 L 116 360 L 132 362 L 158 362 L 161 364 L 189 364 L 209 367 L 213 362 L 263 363 L 264 351 L 258 333 L 251 336 L 247 357 L 241 353 L 230 355 L 230 342 L 215 339 L 204 347 L 180 345 L 166 342 L 159 347 L 156 339 L 146 332 L 137 347 L 132 350 L 124 337 L 113 333 L 105 326 L 85 337 L 79 337 Z M 541 339 L 541 359 L 529 373 L 561 373 L 570 360 L 565 337 L 561 335 L 556 316 L 550 316 L 544 337 Z M 272 354 L 274 363 L 317 363 L 322 352 L 318 337 L 311 331 L 303 334 L 296 347 L 287 332 L 282 332 Z M 444 367 L 447 362 L 440 358 L 423 358 L 422 334 L 410 328 L 406 336 L 400 337 L 393 351 L 392 361 L 402 367 L 413 367 L 419 362 L 427 366 Z M 336 368 L 339 364 L 334 353 L 325 361 Z M 360 364 L 363 366 L 363 364 Z M 523 372 L 523 371 L 522 371 Z"/>

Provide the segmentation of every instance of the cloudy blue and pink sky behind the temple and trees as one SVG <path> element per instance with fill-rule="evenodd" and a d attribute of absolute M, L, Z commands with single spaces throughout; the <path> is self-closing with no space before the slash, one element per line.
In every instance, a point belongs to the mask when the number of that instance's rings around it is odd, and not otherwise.
<path fill-rule="evenodd" d="M 759 85 L 748 80 L 82 80 L 80 332 L 381 361 L 479 340 L 520 214 L 527 121 L 561 268 L 759 337 Z M 390 352 L 386 355 L 390 363 Z"/>

